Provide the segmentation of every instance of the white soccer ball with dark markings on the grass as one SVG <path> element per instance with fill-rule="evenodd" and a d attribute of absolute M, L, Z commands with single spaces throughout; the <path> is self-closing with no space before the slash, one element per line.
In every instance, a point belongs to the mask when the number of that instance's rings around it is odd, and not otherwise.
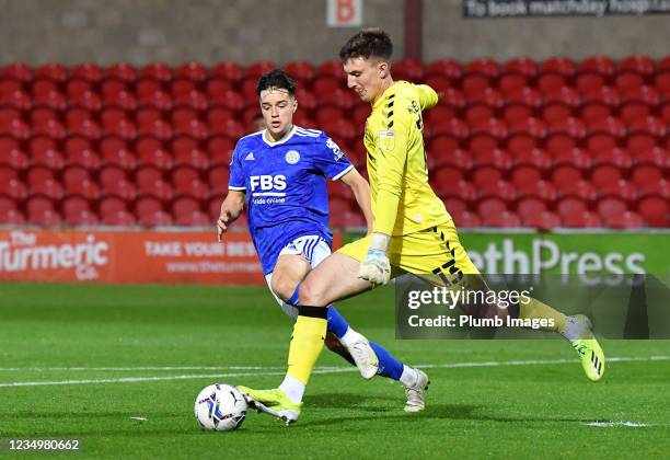
<path fill-rule="evenodd" d="M 215 383 L 200 391 L 195 402 L 200 426 L 212 432 L 232 432 L 246 417 L 246 400 L 240 391 L 224 383 Z"/>

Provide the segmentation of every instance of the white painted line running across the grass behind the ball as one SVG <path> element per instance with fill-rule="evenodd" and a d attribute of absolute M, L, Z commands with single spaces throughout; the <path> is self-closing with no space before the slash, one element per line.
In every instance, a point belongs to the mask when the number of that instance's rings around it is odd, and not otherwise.
<path fill-rule="evenodd" d="M 649 356 L 649 357 L 611 357 L 610 363 L 632 363 L 632 361 L 660 361 L 670 360 L 670 356 Z M 512 360 L 512 361 L 483 361 L 483 363 L 448 363 L 436 365 L 419 366 L 426 369 L 455 369 L 455 368 L 472 368 L 472 367 L 501 367 L 501 366 L 545 366 L 555 364 L 575 364 L 575 359 L 533 359 L 533 360 Z M 263 368 L 269 369 L 269 368 Z M 136 369 L 137 370 L 137 369 Z M 358 369 L 354 367 L 317 367 L 313 373 L 339 373 L 355 372 Z M 59 384 L 92 384 L 92 383 L 134 383 L 149 382 L 161 380 L 194 380 L 194 379 L 215 379 L 226 377 L 264 377 L 264 376 L 284 376 L 285 371 L 270 372 L 229 372 L 229 373 L 210 373 L 210 375 L 184 375 L 184 376 L 154 376 L 154 377 L 123 377 L 116 379 L 88 379 L 88 380 L 57 380 L 57 381 L 32 381 L 32 382 L 8 382 L 0 383 L 0 388 L 7 387 L 43 387 L 43 386 L 59 386 Z"/>

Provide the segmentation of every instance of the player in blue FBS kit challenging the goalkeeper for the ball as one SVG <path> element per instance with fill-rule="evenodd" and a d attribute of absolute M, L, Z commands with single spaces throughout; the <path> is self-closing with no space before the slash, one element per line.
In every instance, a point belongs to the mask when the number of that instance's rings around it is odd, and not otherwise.
<path fill-rule="evenodd" d="M 291 77 L 273 70 L 261 77 L 257 93 L 266 129 L 242 137 L 235 146 L 218 237 L 220 241 L 246 205 L 249 230 L 270 291 L 285 313 L 296 319 L 299 284 L 331 254 L 326 176 L 351 188 L 368 229 L 370 186 L 326 134 L 292 124 L 298 102 Z M 333 306 L 327 311 L 325 343 L 355 364 L 365 379 L 379 373 L 400 381 L 406 392 L 406 412 L 424 409 L 426 375 L 369 342 Z M 286 376 L 278 390 L 281 398 L 298 403 L 308 382 L 296 380 Z"/>

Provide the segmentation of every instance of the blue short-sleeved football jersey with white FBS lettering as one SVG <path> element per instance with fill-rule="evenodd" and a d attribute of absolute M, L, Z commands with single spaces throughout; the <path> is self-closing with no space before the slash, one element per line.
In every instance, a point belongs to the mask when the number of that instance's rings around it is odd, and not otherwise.
<path fill-rule="evenodd" d="M 294 126 L 276 142 L 263 133 L 238 141 L 228 188 L 246 193 L 249 230 L 268 274 L 296 238 L 316 234 L 332 244 L 326 176 L 335 181 L 354 165 L 323 131 Z"/>

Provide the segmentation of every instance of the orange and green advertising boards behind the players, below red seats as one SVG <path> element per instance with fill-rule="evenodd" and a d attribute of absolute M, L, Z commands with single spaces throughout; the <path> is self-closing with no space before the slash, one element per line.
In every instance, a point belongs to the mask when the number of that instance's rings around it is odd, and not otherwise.
<path fill-rule="evenodd" d="M 668 232 L 464 232 L 484 273 L 670 273 Z M 349 234 L 349 240 L 353 234 Z M 343 237 L 335 233 L 335 248 Z M 264 285 L 247 232 L 0 231 L 0 281 Z"/>

